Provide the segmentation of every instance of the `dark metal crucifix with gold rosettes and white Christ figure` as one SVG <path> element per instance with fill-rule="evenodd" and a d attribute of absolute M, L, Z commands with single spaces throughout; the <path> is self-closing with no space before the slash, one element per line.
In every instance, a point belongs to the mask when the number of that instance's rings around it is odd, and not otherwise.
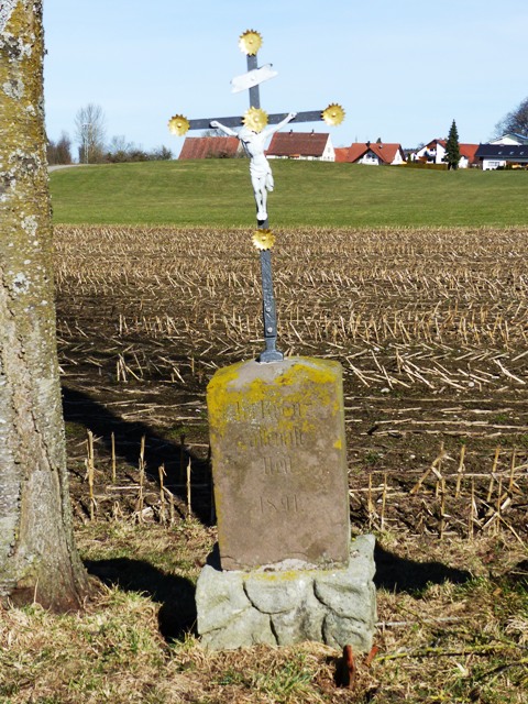
<path fill-rule="evenodd" d="M 258 67 L 257 52 L 262 45 L 258 32 L 248 30 L 239 40 L 241 51 L 248 57 L 248 73 L 233 78 L 231 81 L 233 92 L 249 90 L 250 109 L 242 117 L 231 118 L 201 118 L 187 120 L 184 116 L 174 116 L 168 122 L 170 132 L 179 136 L 188 130 L 207 130 L 215 128 L 224 134 L 235 136 L 242 143 L 244 152 L 250 157 L 250 175 L 256 204 L 257 231 L 253 235 L 253 243 L 261 253 L 262 272 L 262 310 L 264 321 L 265 350 L 261 352 L 258 362 L 278 362 L 284 359 L 276 348 L 277 342 L 277 316 L 275 309 L 275 296 L 273 294 L 272 276 L 272 246 L 275 237 L 270 230 L 267 215 L 267 193 L 273 190 L 273 175 L 270 163 L 265 156 L 264 147 L 267 139 L 288 122 L 316 122 L 323 120 L 327 124 L 340 124 L 344 118 L 341 106 L 331 103 L 324 110 L 311 110 L 308 112 L 289 112 L 266 114 L 261 109 L 261 96 L 258 86 L 264 80 L 276 76 L 271 64 Z M 266 125 L 270 127 L 267 129 Z M 239 132 L 232 128 L 241 128 Z"/>

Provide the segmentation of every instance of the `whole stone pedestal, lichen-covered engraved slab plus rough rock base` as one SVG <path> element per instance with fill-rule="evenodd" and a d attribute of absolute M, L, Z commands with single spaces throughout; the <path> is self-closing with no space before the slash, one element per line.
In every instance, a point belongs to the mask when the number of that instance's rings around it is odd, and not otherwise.
<path fill-rule="evenodd" d="M 207 404 L 219 562 L 197 585 L 204 644 L 369 649 L 374 543 L 350 543 L 341 365 L 234 364 L 215 374 Z"/>

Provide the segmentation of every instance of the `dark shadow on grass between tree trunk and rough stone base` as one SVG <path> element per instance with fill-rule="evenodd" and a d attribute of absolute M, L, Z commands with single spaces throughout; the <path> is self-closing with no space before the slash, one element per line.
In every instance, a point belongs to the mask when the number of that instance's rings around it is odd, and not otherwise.
<path fill-rule="evenodd" d="M 145 594 L 161 604 L 160 632 L 165 640 L 183 640 L 196 626 L 195 585 L 190 580 L 165 574 L 143 560 L 114 558 L 86 560 L 88 572 L 107 586 Z"/>

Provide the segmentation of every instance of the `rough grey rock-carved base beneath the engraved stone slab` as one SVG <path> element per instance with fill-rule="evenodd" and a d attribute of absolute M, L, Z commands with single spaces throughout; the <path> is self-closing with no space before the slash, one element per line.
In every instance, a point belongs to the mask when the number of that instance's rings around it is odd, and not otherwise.
<path fill-rule="evenodd" d="M 351 543 L 348 566 L 221 571 L 207 564 L 196 587 L 198 634 L 212 650 L 305 640 L 369 651 L 376 623 L 374 536 Z"/>

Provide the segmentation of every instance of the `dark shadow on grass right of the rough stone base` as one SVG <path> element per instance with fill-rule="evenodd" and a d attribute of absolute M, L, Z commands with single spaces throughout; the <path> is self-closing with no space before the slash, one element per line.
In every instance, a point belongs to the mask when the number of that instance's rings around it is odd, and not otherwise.
<path fill-rule="evenodd" d="M 466 570 L 450 568 L 441 562 L 415 562 L 384 550 L 377 542 L 374 550 L 376 588 L 388 592 L 419 594 L 428 584 L 463 584 L 472 579 Z"/>

